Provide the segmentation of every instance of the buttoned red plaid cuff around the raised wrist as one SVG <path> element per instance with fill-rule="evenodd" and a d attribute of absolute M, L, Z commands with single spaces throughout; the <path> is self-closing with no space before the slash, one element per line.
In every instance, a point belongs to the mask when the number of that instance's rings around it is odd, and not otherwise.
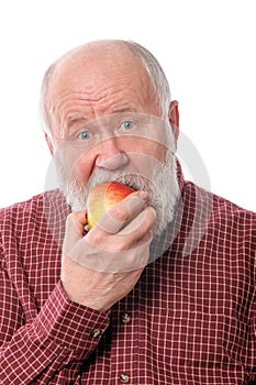
<path fill-rule="evenodd" d="M 109 314 L 73 302 L 59 282 L 33 322 L 35 336 L 73 350 L 86 359 L 97 348 L 110 322 Z"/>

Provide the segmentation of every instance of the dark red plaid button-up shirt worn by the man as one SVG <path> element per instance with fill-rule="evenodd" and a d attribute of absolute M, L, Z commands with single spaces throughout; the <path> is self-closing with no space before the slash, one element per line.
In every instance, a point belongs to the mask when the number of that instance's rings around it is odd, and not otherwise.
<path fill-rule="evenodd" d="M 59 283 L 69 211 L 59 194 L 0 211 L 1 384 L 242 385 L 256 378 L 256 215 L 182 179 L 181 188 L 177 237 L 164 240 L 163 255 L 108 314 L 71 302 Z M 194 243 L 191 228 L 205 197 L 211 216 Z"/>

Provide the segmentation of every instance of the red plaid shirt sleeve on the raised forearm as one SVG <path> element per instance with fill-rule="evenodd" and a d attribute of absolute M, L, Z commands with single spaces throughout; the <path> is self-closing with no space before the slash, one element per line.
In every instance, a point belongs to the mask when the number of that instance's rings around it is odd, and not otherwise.
<path fill-rule="evenodd" d="M 70 301 L 59 282 L 33 322 L 2 345 L 0 383 L 46 384 L 70 362 L 86 360 L 108 324 L 107 314 Z"/>

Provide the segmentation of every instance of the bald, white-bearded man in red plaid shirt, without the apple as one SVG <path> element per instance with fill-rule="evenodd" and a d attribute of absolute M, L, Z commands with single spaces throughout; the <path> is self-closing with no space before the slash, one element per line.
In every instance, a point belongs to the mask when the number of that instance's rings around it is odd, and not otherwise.
<path fill-rule="evenodd" d="M 0 212 L 2 384 L 249 384 L 256 215 L 186 182 L 177 101 L 125 41 L 46 72 L 57 188 Z M 88 231 L 101 183 L 134 193 Z"/>

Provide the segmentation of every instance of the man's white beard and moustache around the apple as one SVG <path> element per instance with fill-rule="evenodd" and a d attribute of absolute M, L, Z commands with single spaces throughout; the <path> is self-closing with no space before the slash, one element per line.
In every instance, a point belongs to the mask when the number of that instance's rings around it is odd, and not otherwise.
<path fill-rule="evenodd" d="M 151 163 L 151 162 L 149 162 Z M 168 152 L 166 164 L 154 162 L 151 170 L 142 175 L 131 167 L 108 170 L 98 168 L 92 174 L 87 186 L 81 180 L 67 180 L 63 185 L 63 193 L 73 211 L 81 211 L 87 207 L 89 191 L 100 183 L 119 182 L 129 185 L 136 190 L 148 194 L 148 205 L 156 210 L 156 221 L 153 228 L 154 237 L 159 237 L 167 224 L 174 220 L 176 205 L 179 197 L 179 185 L 177 178 L 177 163 L 175 155 Z"/>

